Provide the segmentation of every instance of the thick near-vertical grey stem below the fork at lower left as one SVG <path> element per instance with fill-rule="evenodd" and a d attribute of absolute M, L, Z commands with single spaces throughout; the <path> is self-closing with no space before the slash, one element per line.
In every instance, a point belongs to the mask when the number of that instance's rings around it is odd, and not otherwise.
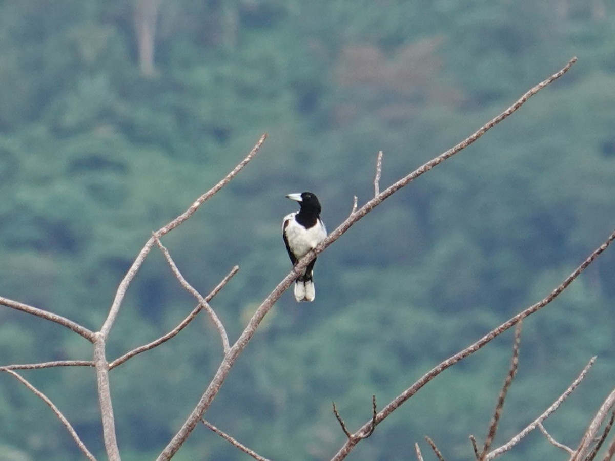
<path fill-rule="evenodd" d="M 94 363 L 96 366 L 98 404 L 100 405 L 100 416 L 103 421 L 105 449 L 109 461 L 120 461 L 113 405 L 111 404 L 111 388 L 109 387 L 109 364 L 105 358 L 105 337 L 102 333 L 96 333 L 96 336 L 94 341 Z"/>

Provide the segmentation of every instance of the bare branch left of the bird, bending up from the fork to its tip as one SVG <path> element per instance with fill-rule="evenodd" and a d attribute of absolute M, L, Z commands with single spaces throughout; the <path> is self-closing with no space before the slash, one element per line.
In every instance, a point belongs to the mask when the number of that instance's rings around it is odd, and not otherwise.
<path fill-rule="evenodd" d="M 247 165 L 248 162 L 252 160 L 252 158 L 256 155 L 256 152 L 258 152 L 258 150 L 261 148 L 266 138 L 267 133 L 264 133 L 263 136 L 261 136 L 260 140 L 258 140 L 258 143 L 256 143 L 256 145 L 252 148 L 252 151 L 250 151 L 250 153 L 245 157 L 244 160 L 242 160 L 235 168 L 233 168 L 231 172 L 228 173 L 228 175 L 224 176 L 224 178 L 218 184 L 213 186 L 212 189 L 209 189 L 209 191 L 201 195 L 196 200 L 196 202 L 192 203 L 188 210 L 186 210 L 177 218 L 173 219 L 173 221 L 171 221 L 166 226 L 157 230 L 155 232 L 156 237 L 160 238 L 162 237 L 162 235 L 168 234 L 171 230 L 175 229 L 175 227 L 179 226 L 181 223 L 186 221 L 186 219 L 190 218 L 190 216 L 194 215 L 194 212 L 200 207 L 200 205 L 205 202 L 205 200 L 208 200 L 213 197 L 213 195 L 216 194 L 216 192 L 220 191 L 222 187 L 226 186 L 226 184 L 228 184 L 231 179 L 234 178 L 237 173 L 239 173 L 239 171 L 244 169 L 245 165 Z M 111 330 L 111 326 L 113 326 L 113 323 L 117 317 L 117 313 L 119 312 L 119 308 L 122 304 L 122 301 L 124 300 L 124 295 L 126 293 L 126 290 L 128 289 L 128 286 L 130 285 L 130 282 L 132 282 L 132 279 L 135 278 L 135 275 L 137 275 L 138 270 L 143 264 L 143 261 L 145 261 L 145 258 L 148 255 L 149 251 L 152 249 L 152 246 L 154 246 L 154 237 L 150 237 L 149 240 L 145 243 L 145 246 L 141 248 L 141 251 L 137 255 L 137 258 L 132 263 L 132 266 L 130 266 L 130 269 L 128 270 L 126 275 L 124 275 L 122 282 L 117 287 L 115 299 L 113 300 L 113 304 L 111 304 L 111 309 L 109 309 L 109 315 L 107 316 L 103 327 L 100 329 L 100 333 L 103 334 L 105 339 L 107 336 L 109 336 L 109 330 Z"/>

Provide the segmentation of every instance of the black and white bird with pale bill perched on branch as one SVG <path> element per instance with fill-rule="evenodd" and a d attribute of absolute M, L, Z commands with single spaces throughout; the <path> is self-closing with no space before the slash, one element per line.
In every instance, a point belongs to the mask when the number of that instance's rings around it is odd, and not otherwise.
<path fill-rule="evenodd" d="M 287 199 L 299 202 L 300 210 L 290 213 L 284 218 L 282 235 L 288 256 L 293 265 L 303 258 L 308 251 L 313 250 L 327 237 L 327 229 L 320 219 L 320 202 L 311 192 L 302 194 L 288 194 Z M 295 299 L 297 302 L 314 301 L 314 263 L 316 258 L 308 264 L 303 273 L 295 281 Z"/>

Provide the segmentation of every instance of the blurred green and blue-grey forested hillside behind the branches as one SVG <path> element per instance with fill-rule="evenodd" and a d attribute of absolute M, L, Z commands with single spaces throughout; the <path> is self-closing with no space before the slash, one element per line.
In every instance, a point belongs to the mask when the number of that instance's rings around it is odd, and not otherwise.
<path fill-rule="evenodd" d="M 290 262 L 280 224 L 312 191 L 332 229 L 373 194 L 579 62 L 454 159 L 387 200 L 320 256 L 317 298 L 285 294 L 207 419 L 270 459 L 329 459 L 350 428 L 435 364 L 549 293 L 615 227 L 615 11 L 602 0 L 173 0 L 153 60 L 135 4 L 0 2 L 0 295 L 100 326 L 153 229 L 185 210 L 263 132 L 247 170 L 164 238 L 236 337 Z M 157 3 L 157 2 L 156 2 Z M 136 11 L 136 13 L 135 13 Z M 593 355 L 549 431 L 575 444 L 615 377 L 615 253 L 525 321 L 499 437 L 540 414 Z M 161 336 L 194 300 L 153 251 L 108 357 Z M 470 459 L 510 361 L 512 334 L 446 371 L 379 425 L 352 460 L 411 459 L 429 435 Z M 158 454 L 220 360 L 203 316 L 111 372 L 124 459 Z M 57 325 L 0 309 L 1 364 L 91 359 Z M 94 371 L 27 372 L 95 454 Z M 49 409 L 0 377 L 2 459 L 78 459 Z M 557 459 L 540 435 L 508 460 Z M 197 428 L 178 460 L 246 455 Z"/>

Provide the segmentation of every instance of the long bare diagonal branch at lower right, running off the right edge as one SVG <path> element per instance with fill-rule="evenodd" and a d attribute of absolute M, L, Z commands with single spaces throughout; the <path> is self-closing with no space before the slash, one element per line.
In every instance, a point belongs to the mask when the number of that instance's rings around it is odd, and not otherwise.
<path fill-rule="evenodd" d="M 509 320 L 505 321 L 504 323 L 502 323 L 502 325 L 491 330 L 489 333 L 487 333 L 485 336 L 483 336 L 481 339 L 479 339 L 474 344 L 470 344 L 468 347 L 466 347 L 466 349 L 463 349 L 459 351 L 458 353 L 456 353 L 455 355 L 453 355 L 452 357 L 447 358 L 445 361 L 435 366 L 435 368 L 432 368 L 429 372 L 424 374 L 418 381 L 415 382 L 415 384 L 411 385 L 404 392 L 402 392 L 399 396 L 397 396 L 394 400 L 392 400 L 391 403 L 389 403 L 386 407 L 384 407 L 378 413 L 378 417 L 376 417 L 376 421 L 379 423 L 384 418 L 389 416 L 393 411 L 395 411 L 395 409 L 399 408 L 400 405 L 402 405 L 405 401 L 407 401 L 411 396 L 415 395 L 415 393 L 418 392 L 424 385 L 426 385 L 429 381 L 431 381 L 436 376 L 438 376 L 438 374 L 442 373 L 445 369 L 450 368 L 454 364 L 458 363 L 458 361 L 461 361 L 464 358 L 469 357 L 473 353 L 477 352 L 477 350 L 482 349 L 483 347 L 485 347 L 486 344 L 491 342 L 495 337 L 504 333 L 504 331 L 506 331 L 507 329 L 512 328 L 513 326 L 517 325 L 517 323 L 519 323 L 524 318 L 528 317 L 528 315 L 531 315 L 534 312 L 538 312 L 538 310 L 542 309 L 547 304 L 552 302 L 562 291 L 566 290 L 566 288 L 568 288 L 568 286 L 571 283 L 573 283 L 574 279 L 577 278 L 579 274 L 581 274 L 581 272 L 583 272 L 587 268 L 587 266 L 592 264 L 592 262 L 596 258 L 598 258 L 598 256 L 603 251 L 606 250 L 606 248 L 608 248 L 608 246 L 611 244 L 611 242 L 613 242 L 614 239 L 615 239 L 615 232 L 609 235 L 607 240 L 602 245 L 598 246 L 598 248 L 595 251 L 593 251 L 593 253 L 590 254 L 590 256 L 587 259 L 585 259 L 585 261 L 582 262 L 581 266 L 577 267 L 572 274 L 566 277 L 566 279 L 563 282 L 561 282 L 560 285 L 558 285 L 555 288 L 555 290 L 553 290 L 548 296 L 544 297 L 544 299 L 542 299 L 541 301 L 537 302 L 534 305 L 531 305 L 530 307 L 523 310 L 522 312 L 518 313 L 517 315 L 515 315 L 515 317 L 512 317 Z M 363 427 L 359 429 L 359 432 L 367 430 L 370 424 L 371 422 L 368 422 L 365 425 L 363 425 Z M 346 444 L 344 444 L 344 446 L 339 450 L 338 454 L 336 454 L 335 457 L 333 457 L 333 460 L 338 461 L 338 460 L 344 459 L 349 454 L 349 452 L 352 450 L 353 447 L 354 447 L 353 444 L 349 444 L 348 442 L 346 442 Z"/>

